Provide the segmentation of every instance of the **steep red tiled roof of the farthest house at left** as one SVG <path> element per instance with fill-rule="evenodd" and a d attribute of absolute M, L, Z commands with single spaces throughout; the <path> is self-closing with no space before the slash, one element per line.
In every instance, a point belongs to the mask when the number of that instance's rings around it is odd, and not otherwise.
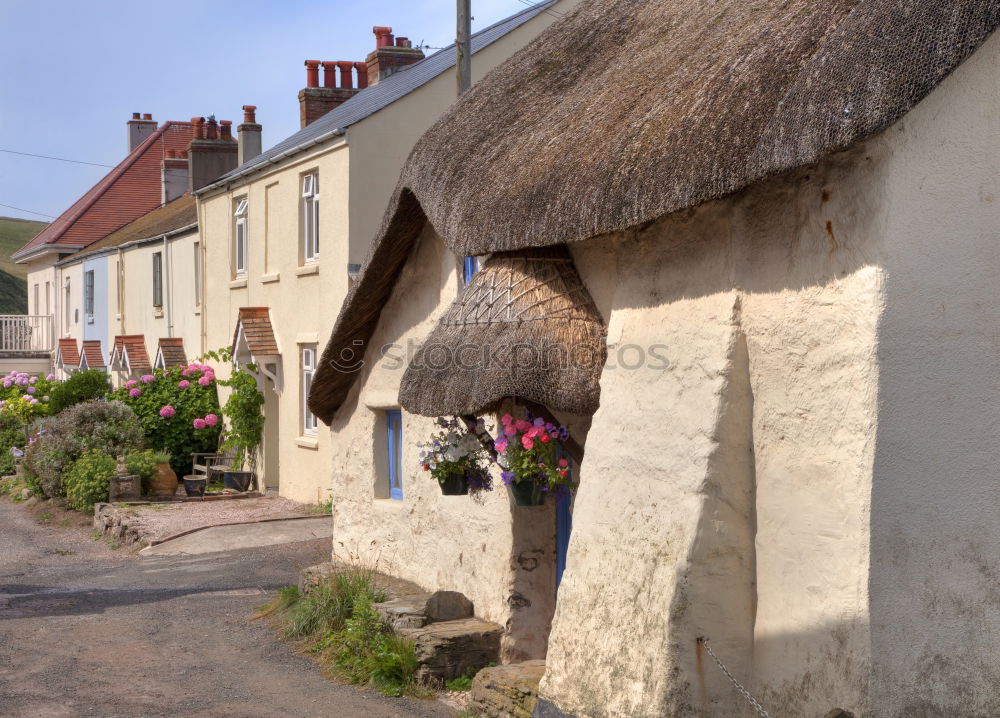
<path fill-rule="evenodd" d="M 161 201 L 160 162 L 167 150 L 186 150 L 190 122 L 165 122 L 69 209 L 17 250 L 17 260 L 45 245 L 89 247 Z"/>

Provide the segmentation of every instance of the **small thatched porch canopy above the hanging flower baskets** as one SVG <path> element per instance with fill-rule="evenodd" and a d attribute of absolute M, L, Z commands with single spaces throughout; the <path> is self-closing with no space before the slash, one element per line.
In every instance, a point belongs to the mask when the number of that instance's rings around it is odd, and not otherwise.
<path fill-rule="evenodd" d="M 425 416 L 508 396 L 592 414 L 606 358 L 604 322 L 565 247 L 494 254 L 413 357 L 399 401 Z"/>

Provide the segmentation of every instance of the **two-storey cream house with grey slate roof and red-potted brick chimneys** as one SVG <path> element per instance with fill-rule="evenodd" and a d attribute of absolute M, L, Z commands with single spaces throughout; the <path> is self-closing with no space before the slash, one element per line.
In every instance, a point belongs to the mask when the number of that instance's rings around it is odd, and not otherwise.
<path fill-rule="evenodd" d="M 575 4 L 539 3 L 476 33 L 473 79 Z M 330 437 L 307 405 L 320 342 L 406 156 L 457 94 L 454 47 L 425 58 L 391 27 L 373 34 L 364 61 L 306 61 L 301 130 L 195 192 L 207 270 L 198 343 L 261 368 L 264 480 L 299 501 L 330 491 Z"/>

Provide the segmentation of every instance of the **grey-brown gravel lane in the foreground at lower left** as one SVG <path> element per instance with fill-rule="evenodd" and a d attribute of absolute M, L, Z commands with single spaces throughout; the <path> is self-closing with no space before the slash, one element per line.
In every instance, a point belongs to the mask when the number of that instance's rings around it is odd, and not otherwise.
<path fill-rule="evenodd" d="M 326 680 L 248 620 L 328 539 L 139 558 L 0 501 L 0 547 L 4 718 L 454 715 Z"/>

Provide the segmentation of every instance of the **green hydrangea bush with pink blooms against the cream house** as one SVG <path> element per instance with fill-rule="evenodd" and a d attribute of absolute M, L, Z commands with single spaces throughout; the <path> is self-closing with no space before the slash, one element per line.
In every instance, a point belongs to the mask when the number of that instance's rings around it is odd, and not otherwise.
<path fill-rule="evenodd" d="M 205 383 L 200 381 L 205 379 Z M 178 476 L 191 470 L 191 454 L 219 447 L 222 412 L 212 368 L 202 364 L 157 369 L 139 381 L 130 381 L 111 393 L 139 417 L 146 444 L 170 454 L 170 467 Z M 169 407 L 169 411 L 165 409 Z M 214 425 L 199 423 L 213 417 Z"/>

